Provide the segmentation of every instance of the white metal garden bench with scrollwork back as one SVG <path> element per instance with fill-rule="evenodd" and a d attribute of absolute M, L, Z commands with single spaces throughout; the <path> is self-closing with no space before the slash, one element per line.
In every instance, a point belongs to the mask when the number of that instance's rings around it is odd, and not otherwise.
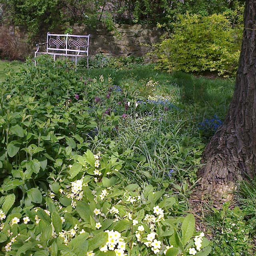
<path fill-rule="evenodd" d="M 53 55 L 54 61 L 56 60 L 56 56 L 74 57 L 76 65 L 78 57 L 86 57 L 87 68 L 89 68 L 89 39 L 90 34 L 88 36 L 78 36 L 70 34 L 50 34 L 50 32 L 48 32 L 47 42 L 36 44 L 35 66 L 37 54 L 49 54 Z M 39 52 L 39 48 L 42 45 L 46 45 L 46 52 Z"/>

